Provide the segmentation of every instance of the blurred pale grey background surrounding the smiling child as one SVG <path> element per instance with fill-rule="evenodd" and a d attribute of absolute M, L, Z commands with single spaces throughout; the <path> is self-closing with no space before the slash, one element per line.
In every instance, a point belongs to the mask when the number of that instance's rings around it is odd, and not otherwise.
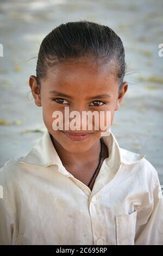
<path fill-rule="evenodd" d="M 1 0 L 0 167 L 27 154 L 45 130 L 28 85 L 42 39 L 61 23 L 87 20 L 112 28 L 126 50 L 129 89 L 111 131 L 120 147 L 146 154 L 163 185 L 162 13 L 162 0 Z"/>

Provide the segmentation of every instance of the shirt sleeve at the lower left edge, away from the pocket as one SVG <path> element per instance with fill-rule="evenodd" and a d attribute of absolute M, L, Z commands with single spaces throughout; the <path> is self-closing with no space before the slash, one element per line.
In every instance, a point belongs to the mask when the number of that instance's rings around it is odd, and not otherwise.
<path fill-rule="evenodd" d="M 14 230 L 14 220 L 4 199 L 0 198 L 0 245 L 12 245 Z"/>

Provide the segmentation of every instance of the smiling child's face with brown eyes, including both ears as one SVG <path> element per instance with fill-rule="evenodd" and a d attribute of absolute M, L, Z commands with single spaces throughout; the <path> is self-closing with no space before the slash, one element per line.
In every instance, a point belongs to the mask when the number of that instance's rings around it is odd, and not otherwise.
<path fill-rule="evenodd" d="M 86 130 L 82 130 L 83 111 L 104 113 L 104 125 L 106 125 L 106 111 L 110 111 L 111 120 L 114 111 L 119 106 L 128 84 L 123 83 L 121 93 L 118 93 L 119 84 L 116 76 L 108 72 L 108 66 L 97 66 L 90 63 L 58 63 L 53 68 L 48 68 L 47 77 L 41 80 L 41 88 L 37 87 L 36 77 L 30 76 L 29 86 L 37 106 L 42 106 L 43 121 L 51 135 L 60 145 L 71 153 L 82 153 L 89 150 L 97 139 L 101 138 L 99 127 L 95 130 L 95 118 L 92 119 L 92 129 L 89 130 L 86 122 Z M 80 114 L 80 130 L 65 130 L 65 107 L 69 107 L 69 113 L 78 111 Z M 53 130 L 53 112 L 60 111 L 63 116 L 63 130 Z M 75 117 L 75 116 L 74 116 Z M 73 118 L 70 118 L 71 122 Z M 75 125 L 75 124 L 74 124 Z M 86 134 L 84 138 L 73 137 L 74 133 Z M 75 139 L 77 138 L 77 139 Z"/>

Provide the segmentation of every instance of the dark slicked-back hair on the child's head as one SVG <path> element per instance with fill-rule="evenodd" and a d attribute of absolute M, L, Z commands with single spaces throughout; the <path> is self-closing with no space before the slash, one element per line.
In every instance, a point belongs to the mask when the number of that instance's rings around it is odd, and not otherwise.
<path fill-rule="evenodd" d="M 121 38 L 108 26 L 85 20 L 61 24 L 42 40 L 36 65 L 38 85 L 46 78 L 48 66 L 88 55 L 102 64 L 112 63 L 110 70 L 116 71 L 121 90 L 126 72 Z"/>

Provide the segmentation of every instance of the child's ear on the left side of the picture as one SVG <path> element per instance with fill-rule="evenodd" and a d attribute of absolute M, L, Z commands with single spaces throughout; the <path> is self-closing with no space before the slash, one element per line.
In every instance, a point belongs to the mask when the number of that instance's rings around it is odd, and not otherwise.
<path fill-rule="evenodd" d="M 32 94 L 35 99 L 36 106 L 41 107 L 40 87 L 37 84 L 37 80 L 35 76 L 29 77 L 29 86 L 30 86 L 30 89 L 32 90 Z"/>

